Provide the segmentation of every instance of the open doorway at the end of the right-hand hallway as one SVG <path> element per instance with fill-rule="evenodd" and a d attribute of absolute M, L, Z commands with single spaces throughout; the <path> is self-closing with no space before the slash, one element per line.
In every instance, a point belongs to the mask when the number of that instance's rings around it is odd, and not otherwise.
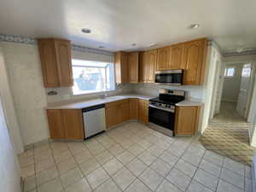
<path fill-rule="evenodd" d="M 247 124 L 250 108 L 252 70 L 250 62 L 224 65 L 220 72 L 212 121 L 225 124 Z"/>

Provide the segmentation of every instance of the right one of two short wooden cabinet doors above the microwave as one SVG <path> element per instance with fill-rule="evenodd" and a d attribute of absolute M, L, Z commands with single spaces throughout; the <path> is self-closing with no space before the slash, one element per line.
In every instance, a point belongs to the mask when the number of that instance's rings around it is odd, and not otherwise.
<path fill-rule="evenodd" d="M 170 69 L 180 69 L 183 63 L 184 44 L 177 44 L 170 47 Z"/>

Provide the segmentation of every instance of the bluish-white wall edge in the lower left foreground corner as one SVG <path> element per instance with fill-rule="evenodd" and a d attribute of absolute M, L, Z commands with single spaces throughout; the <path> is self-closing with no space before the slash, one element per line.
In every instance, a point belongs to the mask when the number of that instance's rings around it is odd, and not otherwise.
<path fill-rule="evenodd" d="M 20 167 L 9 139 L 0 96 L 0 192 L 20 192 Z"/>

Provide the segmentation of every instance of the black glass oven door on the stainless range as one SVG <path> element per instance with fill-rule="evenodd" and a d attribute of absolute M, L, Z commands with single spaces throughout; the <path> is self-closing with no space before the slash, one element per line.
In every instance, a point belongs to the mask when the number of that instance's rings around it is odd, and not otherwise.
<path fill-rule="evenodd" d="M 148 106 L 148 121 L 174 131 L 175 113 L 171 109 Z"/>

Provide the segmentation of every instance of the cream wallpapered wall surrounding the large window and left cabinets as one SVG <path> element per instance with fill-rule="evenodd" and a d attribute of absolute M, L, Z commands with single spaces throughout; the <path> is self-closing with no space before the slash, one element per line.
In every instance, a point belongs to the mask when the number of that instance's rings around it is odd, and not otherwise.
<path fill-rule="evenodd" d="M 24 145 L 37 143 L 49 137 L 44 109 L 49 102 L 76 102 L 102 94 L 73 96 L 72 88 L 45 89 L 37 44 L 0 42 L 0 48 L 3 50 L 9 84 L 14 96 L 15 113 L 20 125 L 20 135 Z M 113 55 L 100 55 L 78 50 L 73 50 L 72 55 L 76 59 L 113 61 Z M 56 90 L 58 95 L 48 96 L 47 92 L 49 90 Z M 115 91 L 111 91 L 109 95 L 130 91 L 131 86 L 129 84 L 120 85 Z M 70 97 L 68 101 L 67 95 Z"/>

